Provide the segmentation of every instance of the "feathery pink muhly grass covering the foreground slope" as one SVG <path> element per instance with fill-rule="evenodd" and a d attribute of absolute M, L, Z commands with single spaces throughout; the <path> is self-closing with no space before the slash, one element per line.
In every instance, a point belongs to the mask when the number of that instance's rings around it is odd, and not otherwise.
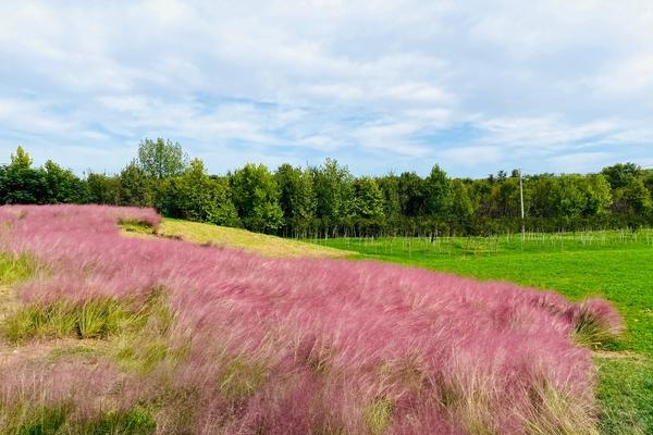
<path fill-rule="evenodd" d="M 162 434 L 596 433 L 591 352 L 571 333 L 588 311 L 618 332 L 605 301 L 377 262 L 124 238 L 119 220 L 160 217 L 0 207 L 0 251 L 29 253 L 47 271 L 20 284 L 22 301 L 102 296 L 137 309 L 164 289 L 167 351 L 186 351 L 139 374 L 110 360 L 93 370 L 15 362 L 0 371 L 0 400 L 72 400 L 81 413 L 156 402 Z"/>

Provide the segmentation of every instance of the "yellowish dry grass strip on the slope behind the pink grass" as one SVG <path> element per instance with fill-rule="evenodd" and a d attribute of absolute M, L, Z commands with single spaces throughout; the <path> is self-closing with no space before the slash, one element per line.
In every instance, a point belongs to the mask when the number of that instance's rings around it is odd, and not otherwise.
<path fill-rule="evenodd" d="M 137 225 L 124 225 L 127 233 L 149 234 L 149 228 Z M 157 234 L 164 237 L 176 237 L 199 245 L 212 245 L 229 249 L 241 249 L 246 252 L 266 257 L 328 257 L 344 258 L 356 252 L 317 246 L 299 240 L 286 239 L 266 234 L 251 233 L 247 229 L 229 228 L 199 222 L 182 221 L 164 217 L 159 224 Z"/>

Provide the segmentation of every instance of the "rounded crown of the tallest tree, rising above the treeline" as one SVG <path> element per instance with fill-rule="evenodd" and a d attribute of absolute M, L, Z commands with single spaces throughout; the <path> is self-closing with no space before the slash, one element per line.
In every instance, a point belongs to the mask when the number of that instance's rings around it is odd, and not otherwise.
<path fill-rule="evenodd" d="M 182 175 L 188 166 L 187 160 L 182 146 L 170 139 L 146 138 L 138 144 L 137 164 L 147 177 L 163 179 Z"/>

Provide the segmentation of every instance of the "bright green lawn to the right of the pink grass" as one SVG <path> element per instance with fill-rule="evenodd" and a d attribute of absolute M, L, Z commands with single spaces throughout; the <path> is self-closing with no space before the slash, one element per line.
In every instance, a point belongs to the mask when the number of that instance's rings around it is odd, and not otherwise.
<path fill-rule="evenodd" d="M 492 238 L 312 240 L 405 265 L 553 289 L 578 300 L 600 296 L 627 331 L 594 357 L 604 434 L 653 434 L 653 233 L 596 232 Z"/>

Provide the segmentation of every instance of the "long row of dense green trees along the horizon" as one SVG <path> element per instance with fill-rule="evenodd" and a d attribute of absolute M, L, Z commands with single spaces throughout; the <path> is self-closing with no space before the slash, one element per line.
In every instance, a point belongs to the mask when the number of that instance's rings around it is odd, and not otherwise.
<path fill-rule="evenodd" d="M 282 164 L 274 172 L 246 164 L 209 175 L 176 142 L 145 139 L 119 174 L 84 178 L 47 161 L 33 167 L 21 147 L 0 166 L 1 203 L 107 203 L 155 207 L 163 215 L 284 236 L 494 234 L 581 227 L 637 228 L 653 222 L 653 172 L 633 163 L 599 174 L 520 174 L 451 178 L 434 165 L 414 172 L 355 177 L 335 160 L 320 166 Z"/>

